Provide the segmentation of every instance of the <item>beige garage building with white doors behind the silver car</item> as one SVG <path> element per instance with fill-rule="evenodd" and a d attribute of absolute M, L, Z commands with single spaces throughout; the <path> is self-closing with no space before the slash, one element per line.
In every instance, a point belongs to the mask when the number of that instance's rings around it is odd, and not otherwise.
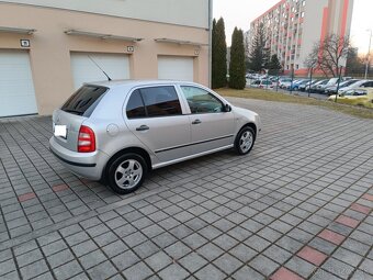
<path fill-rule="evenodd" d="M 82 82 L 106 79 L 99 67 L 208 86 L 211 2 L 0 1 L 0 116 L 50 114 Z"/>

